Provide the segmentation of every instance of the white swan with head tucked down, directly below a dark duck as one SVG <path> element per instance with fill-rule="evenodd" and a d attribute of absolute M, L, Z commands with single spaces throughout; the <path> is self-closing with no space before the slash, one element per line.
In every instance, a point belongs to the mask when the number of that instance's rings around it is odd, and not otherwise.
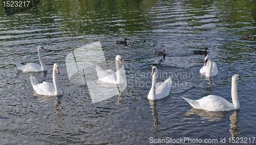
<path fill-rule="evenodd" d="M 204 66 L 200 69 L 200 73 L 207 77 L 215 76 L 218 74 L 218 68 L 215 62 L 211 61 L 210 55 L 205 56 Z"/>

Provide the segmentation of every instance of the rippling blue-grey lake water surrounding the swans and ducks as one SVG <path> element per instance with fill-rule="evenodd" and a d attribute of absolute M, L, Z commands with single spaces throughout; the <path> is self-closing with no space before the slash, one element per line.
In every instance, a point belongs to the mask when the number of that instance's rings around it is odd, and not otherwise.
<path fill-rule="evenodd" d="M 255 1 L 41 1 L 36 7 L 6 17 L 0 4 L 0 140 L 3 144 L 148 144 L 154 139 L 249 138 L 255 134 Z M 127 38 L 127 45 L 115 40 Z M 66 56 L 100 41 L 106 62 L 123 57 L 127 88 L 110 99 L 92 103 L 87 84 L 69 81 Z M 48 72 L 24 73 L 14 62 L 39 63 Z M 208 54 L 219 74 L 199 73 Z M 149 101 L 151 64 L 167 55 L 158 81 L 172 76 L 170 95 Z M 63 95 L 36 94 L 29 76 L 52 81 L 52 66 Z M 113 68 L 115 70 L 115 67 Z M 218 95 L 231 102 L 231 76 L 239 74 L 236 111 L 207 112 L 182 99 Z M 148 83 L 147 83 L 148 82 Z M 146 85 L 148 84 L 148 85 Z M 239 140 L 241 141 L 241 139 Z M 256 140 L 255 140 L 256 141 Z M 254 142 L 255 142 L 254 141 Z M 249 143 L 249 140 L 247 140 Z M 182 144 L 189 144 L 187 142 Z M 234 143 L 236 144 L 236 143 Z"/>

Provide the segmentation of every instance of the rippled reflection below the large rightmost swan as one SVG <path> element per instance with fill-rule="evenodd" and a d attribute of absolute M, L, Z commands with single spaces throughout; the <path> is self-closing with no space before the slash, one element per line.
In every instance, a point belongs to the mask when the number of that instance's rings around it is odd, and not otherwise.
<path fill-rule="evenodd" d="M 214 111 L 205 111 L 205 110 L 199 110 L 199 109 L 191 108 L 191 110 L 187 111 L 185 114 L 187 114 L 187 115 L 197 114 L 202 119 L 206 119 L 208 121 L 219 121 L 219 120 L 221 120 L 222 117 L 225 117 L 229 112 L 233 112 L 230 115 L 231 124 L 229 125 L 230 126 L 229 131 L 232 134 L 232 137 L 237 138 L 238 134 L 240 133 L 240 130 L 238 129 L 238 125 L 237 125 L 237 123 L 239 122 L 238 121 L 239 109 L 238 110 L 233 110 L 233 111 L 214 112 Z"/>

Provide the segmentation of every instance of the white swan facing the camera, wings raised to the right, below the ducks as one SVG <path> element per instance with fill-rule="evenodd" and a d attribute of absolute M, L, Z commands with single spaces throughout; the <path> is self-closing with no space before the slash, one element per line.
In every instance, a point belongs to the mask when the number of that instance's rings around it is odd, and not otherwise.
<path fill-rule="evenodd" d="M 152 87 L 150 93 L 147 95 L 147 99 L 158 100 L 169 95 L 170 87 L 172 86 L 172 79 L 169 77 L 164 82 L 157 83 L 157 67 L 152 67 Z"/>

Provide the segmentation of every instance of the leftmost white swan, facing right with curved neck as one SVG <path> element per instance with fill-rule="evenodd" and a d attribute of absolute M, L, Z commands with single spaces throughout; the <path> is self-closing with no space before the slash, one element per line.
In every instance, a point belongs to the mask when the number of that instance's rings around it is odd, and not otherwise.
<path fill-rule="evenodd" d="M 37 53 L 40 61 L 40 65 L 35 63 L 28 63 L 27 65 L 22 65 L 18 62 L 15 62 L 16 66 L 18 67 L 18 70 L 24 71 L 24 72 L 42 72 L 47 71 L 46 65 L 42 62 L 42 56 L 41 56 L 41 50 L 45 50 L 44 47 L 38 46 L 37 47 Z"/>

